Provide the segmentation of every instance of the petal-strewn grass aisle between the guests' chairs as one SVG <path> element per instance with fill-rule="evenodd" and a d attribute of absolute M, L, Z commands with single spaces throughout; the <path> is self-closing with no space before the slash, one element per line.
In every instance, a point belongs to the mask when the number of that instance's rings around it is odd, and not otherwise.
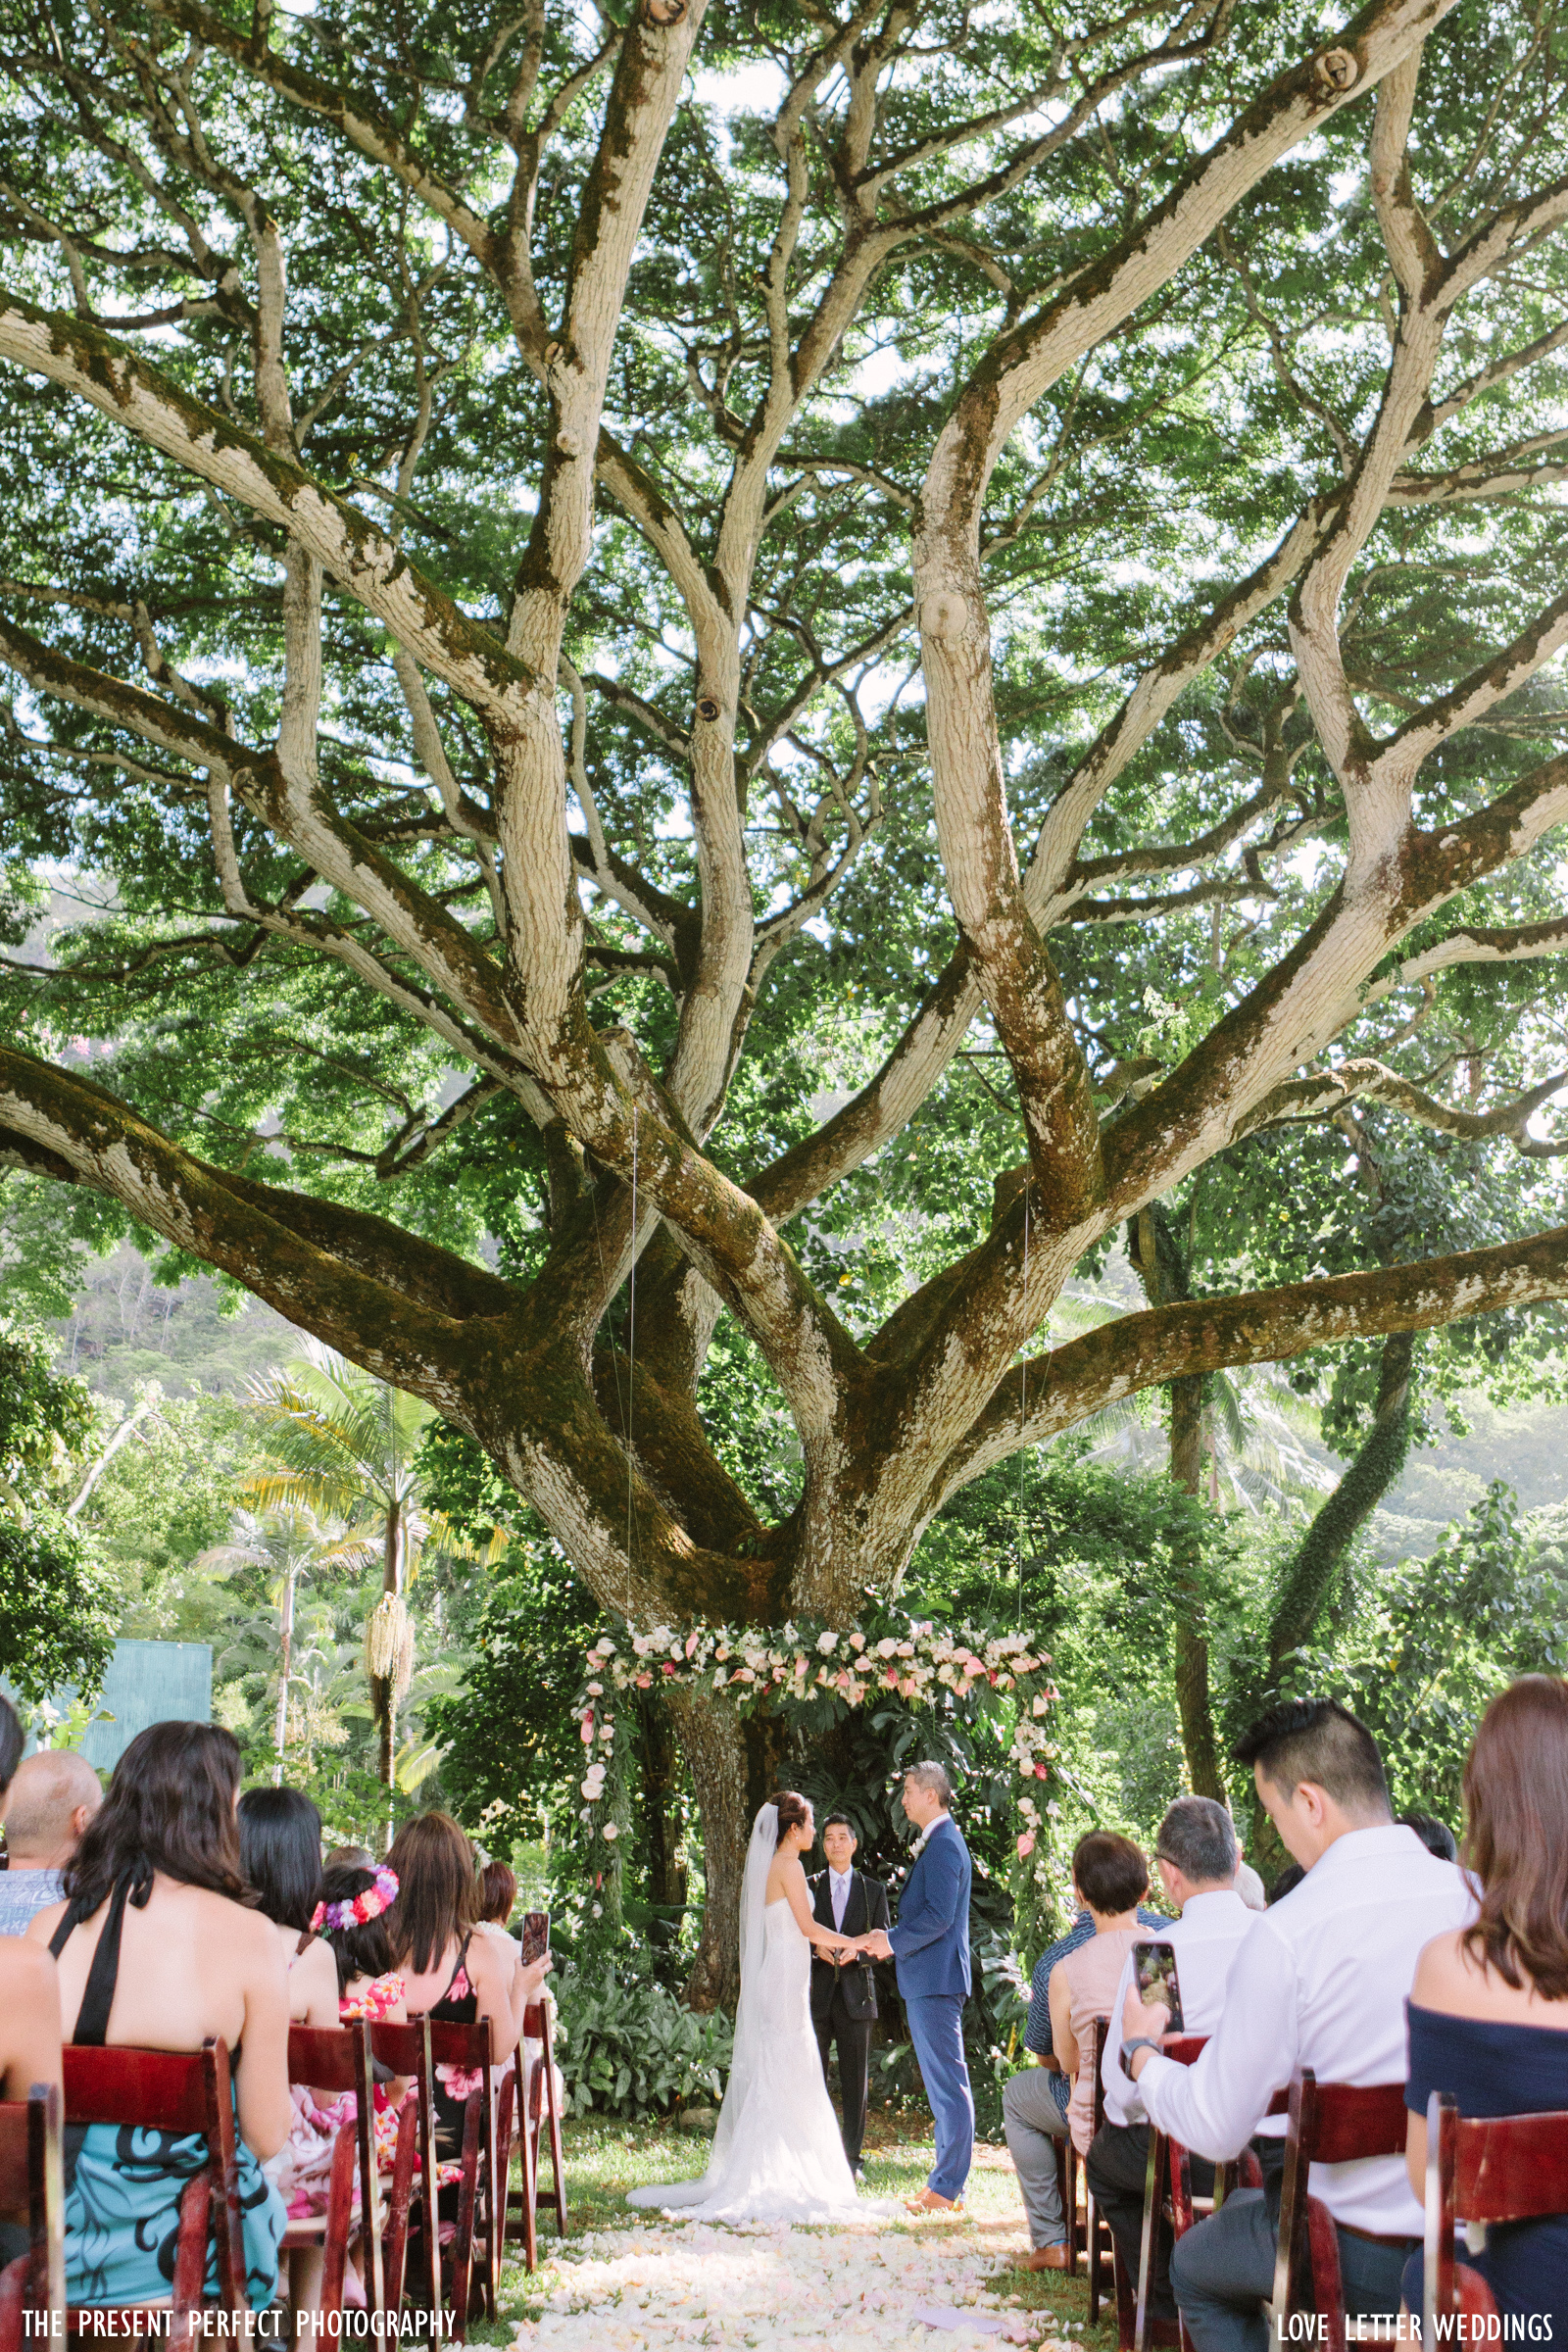
<path fill-rule="evenodd" d="M 872 2117 L 867 2197 L 924 2187 L 931 2140 L 922 2124 Z M 929 2122 L 924 2124 L 929 2131 Z M 505 2312 L 475 2340 L 517 2352 L 644 2352 L 710 2345 L 722 2352 L 790 2345 L 792 2352 L 980 2352 L 985 2345 L 1088 2345 L 1110 2352 L 1114 2314 L 1086 2326 L 1081 2279 L 1006 2267 L 1027 2244 L 1018 2180 L 1004 2147 L 978 2147 L 964 2220 L 846 2230 L 719 2230 L 630 2216 L 625 2192 L 701 2171 L 708 2143 L 668 2124 L 583 2117 L 567 2126 L 571 2237 L 557 2253 L 541 2216 L 541 2267 L 505 2270 Z M 980 2331 L 933 2328 L 922 2307 L 973 2310 Z M 999 2324 L 999 2333 L 997 2333 Z"/>

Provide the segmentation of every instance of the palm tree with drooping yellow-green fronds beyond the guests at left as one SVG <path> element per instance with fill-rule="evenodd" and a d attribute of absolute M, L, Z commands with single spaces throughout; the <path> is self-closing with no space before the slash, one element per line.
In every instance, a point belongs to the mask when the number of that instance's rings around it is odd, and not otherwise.
<path fill-rule="evenodd" d="M 430 1406 L 346 1362 L 315 1338 L 282 1369 L 249 1383 L 247 1402 L 277 1468 L 249 1479 L 259 1510 L 306 1505 L 348 1519 L 381 1522 L 381 1599 L 364 1621 L 364 1675 L 378 1731 L 378 1773 L 390 1790 L 397 1755 L 397 1708 L 414 1679 L 414 1621 L 404 1599 L 425 1548 L 458 1559 L 494 1559 L 456 1534 L 442 1512 L 425 1512 L 414 1451 Z M 390 1809 L 388 1809 L 390 1832 Z"/>

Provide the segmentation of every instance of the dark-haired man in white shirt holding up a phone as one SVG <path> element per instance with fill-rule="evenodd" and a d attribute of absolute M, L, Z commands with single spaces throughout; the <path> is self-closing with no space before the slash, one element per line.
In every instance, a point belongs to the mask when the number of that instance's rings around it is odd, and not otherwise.
<path fill-rule="evenodd" d="M 1420 1947 L 1474 1910 L 1455 1865 L 1394 1820 L 1378 1743 L 1333 1698 L 1269 1708 L 1234 1752 L 1307 1877 L 1237 1945 L 1197 2065 L 1161 2056 L 1166 2011 L 1145 2009 L 1135 1990 L 1121 2044 L 1150 2122 L 1213 2164 L 1246 2147 L 1298 2065 L 1319 2082 L 1403 2082 L 1403 1999 Z M 1338 2227 L 1347 2314 L 1399 2310 L 1422 2237 L 1399 2157 L 1314 2166 L 1312 2192 Z M 1234 2190 L 1178 2241 L 1171 2284 L 1197 2352 L 1265 2352 L 1276 2216 L 1265 2190 Z"/>

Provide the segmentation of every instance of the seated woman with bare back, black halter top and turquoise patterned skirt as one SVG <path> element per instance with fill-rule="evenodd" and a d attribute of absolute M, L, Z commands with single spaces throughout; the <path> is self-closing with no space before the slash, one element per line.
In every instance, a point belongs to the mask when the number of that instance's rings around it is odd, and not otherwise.
<path fill-rule="evenodd" d="M 244 2291 L 277 2288 L 282 2197 L 261 2161 L 289 2131 L 289 2002 L 275 1929 L 240 1875 L 240 1743 L 219 1724 L 150 1724 L 66 1865 L 66 1903 L 28 1936 L 59 1959 L 75 2044 L 200 2051 L 228 2042 L 240 2122 Z M 71 2303 L 167 2303 L 179 2199 L 200 2136 L 89 2124 L 66 2190 Z M 209 2265 L 207 2293 L 216 2293 Z"/>

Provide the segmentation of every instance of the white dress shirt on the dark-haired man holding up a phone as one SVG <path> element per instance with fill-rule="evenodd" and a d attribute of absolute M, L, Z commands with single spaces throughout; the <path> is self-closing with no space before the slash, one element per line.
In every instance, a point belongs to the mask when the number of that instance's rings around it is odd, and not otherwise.
<path fill-rule="evenodd" d="M 1246 2147 L 1298 2065 L 1319 2082 L 1403 2082 L 1418 1955 L 1474 1907 L 1455 1863 L 1427 1853 L 1415 1830 L 1387 1823 L 1338 1837 L 1237 1945 L 1225 2009 L 1197 2065 L 1145 2060 L 1145 2114 L 1220 2164 Z M 1403 2157 L 1314 2164 L 1312 2194 L 1352 2230 L 1422 2234 Z"/>

